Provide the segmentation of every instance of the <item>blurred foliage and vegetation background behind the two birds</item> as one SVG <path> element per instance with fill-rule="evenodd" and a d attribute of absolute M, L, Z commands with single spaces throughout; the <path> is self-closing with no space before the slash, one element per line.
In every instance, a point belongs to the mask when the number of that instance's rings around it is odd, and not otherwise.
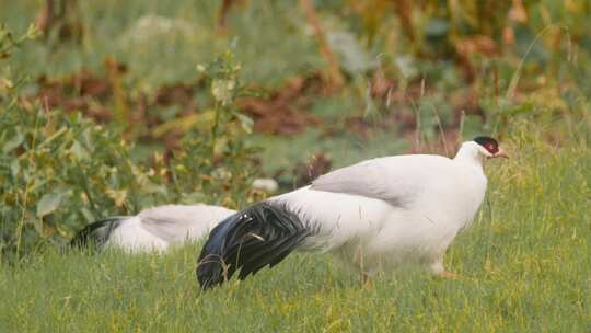
<path fill-rule="evenodd" d="M 0 2 L 0 252 L 533 122 L 589 140 L 591 1 Z"/>

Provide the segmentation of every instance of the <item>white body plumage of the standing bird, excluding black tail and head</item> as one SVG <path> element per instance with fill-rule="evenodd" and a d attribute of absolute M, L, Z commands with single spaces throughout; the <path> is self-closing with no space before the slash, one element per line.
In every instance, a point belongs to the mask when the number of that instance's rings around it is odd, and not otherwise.
<path fill-rule="evenodd" d="M 485 196 L 477 152 L 467 142 L 455 159 L 369 160 L 271 200 L 286 203 L 318 228 L 301 250 L 334 253 L 366 274 L 413 262 L 441 274 L 445 249 Z"/>

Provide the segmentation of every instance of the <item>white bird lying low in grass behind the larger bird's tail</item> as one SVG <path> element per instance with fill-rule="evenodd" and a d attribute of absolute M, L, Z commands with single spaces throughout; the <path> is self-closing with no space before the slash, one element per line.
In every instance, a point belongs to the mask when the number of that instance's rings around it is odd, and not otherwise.
<path fill-rule="evenodd" d="M 236 213 L 211 205 L 166 205 L 140 211 L 136 216 L 111 217 L 79 231 L 72 246 L 93 243 L 99 248 L 120 248 L 126 252 L 164 252 L 170 246 L 198 240 L 218 222 Z"/>

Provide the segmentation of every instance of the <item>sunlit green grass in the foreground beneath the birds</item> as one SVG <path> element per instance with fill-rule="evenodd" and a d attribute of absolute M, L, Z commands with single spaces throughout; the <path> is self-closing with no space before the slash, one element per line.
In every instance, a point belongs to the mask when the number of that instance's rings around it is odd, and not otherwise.
<path fill-rule="evenodd" d="M 535 131 L 534 131 L 535 133 Z M 0 271 L 2 332 L 589 332 L 591 153 L 511 134 L 490 161 L 474 226 L 449 249 L 457 279 L 407 269 L 360 285 L 329 256 L 298 254 L 200 292 L 198 245 L 166 255 L 48 251 Z"/>

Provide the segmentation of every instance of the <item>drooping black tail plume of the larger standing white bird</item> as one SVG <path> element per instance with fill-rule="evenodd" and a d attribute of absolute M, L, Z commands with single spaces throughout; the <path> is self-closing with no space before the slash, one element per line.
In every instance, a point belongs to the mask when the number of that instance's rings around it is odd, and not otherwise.
<path fill-rule="evenodd" d="M 251 206 L 211 230 L 199 255 L 197 279 L 204 290 L 221 285 L 237 269 L 244 279 L 278 264 L 311 233 L 310 226 L 285 204 Z"/>

